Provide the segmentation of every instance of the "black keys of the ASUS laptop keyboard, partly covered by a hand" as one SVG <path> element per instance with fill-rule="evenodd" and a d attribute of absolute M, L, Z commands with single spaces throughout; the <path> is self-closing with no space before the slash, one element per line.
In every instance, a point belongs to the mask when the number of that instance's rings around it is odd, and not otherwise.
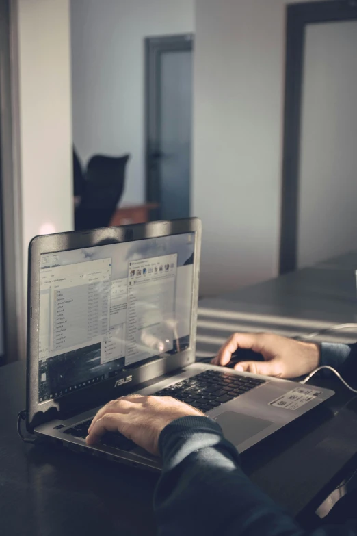
<path fill-rule="evenodd" d="M 203 412 L 214 409 L 265 383 L 264 380 L 235 376 L 219 370 L 206 370 L 187 380 L 179 381 L 154 393 L 155 396 L 173 396 Z M 85 439 L 92 419 L 80 422 L 63 433 Z M 106 432 L 101 438 L 106 446 L 129 452 L 136 447 L 130 439 L 119 432 Z"/>

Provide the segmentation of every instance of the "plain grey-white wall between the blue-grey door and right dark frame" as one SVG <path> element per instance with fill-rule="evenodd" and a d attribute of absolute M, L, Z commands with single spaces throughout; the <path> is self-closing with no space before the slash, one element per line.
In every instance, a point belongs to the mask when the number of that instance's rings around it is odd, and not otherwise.
<path fill-rule="evenodd" d="M 196 0 L 193 214 L 201 294 L 278 275 L 284 0 Z"/>

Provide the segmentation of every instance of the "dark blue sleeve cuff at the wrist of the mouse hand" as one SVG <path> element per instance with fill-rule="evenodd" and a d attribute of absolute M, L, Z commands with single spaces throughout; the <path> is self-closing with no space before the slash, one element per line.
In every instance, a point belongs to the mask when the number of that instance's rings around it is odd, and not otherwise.
<path fill-rule="evenodd" d="M 321 365 L 330 365 L 341 374 L 356 374 L 357 380 L 357 344 L 321 344 Z"/>

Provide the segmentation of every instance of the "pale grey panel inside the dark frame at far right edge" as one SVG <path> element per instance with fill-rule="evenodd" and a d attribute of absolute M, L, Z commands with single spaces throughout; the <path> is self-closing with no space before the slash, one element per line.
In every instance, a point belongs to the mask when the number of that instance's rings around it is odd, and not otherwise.
<path fill-rule="evenodd" d="M 357 21 L 308 26 L 303 80 L 299 268 L 356 249 Z"/>

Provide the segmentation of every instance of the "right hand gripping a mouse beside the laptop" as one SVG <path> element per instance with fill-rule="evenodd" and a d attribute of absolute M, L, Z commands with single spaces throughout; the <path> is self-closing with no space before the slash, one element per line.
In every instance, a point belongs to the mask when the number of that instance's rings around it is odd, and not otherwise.
<path fill-rule="evenodd" d="M 235 365 L 235 370 L 278 378 L 296 378 L 319 366 L 318 344 L 287 339 L 273 333 L 234 333 L 211 363 L 228 365 L 238 348 L 251 349 L 263 355 L 265 361 L 242 361 Z M 239 352 L 237 356 L 239 357 Z"/>

